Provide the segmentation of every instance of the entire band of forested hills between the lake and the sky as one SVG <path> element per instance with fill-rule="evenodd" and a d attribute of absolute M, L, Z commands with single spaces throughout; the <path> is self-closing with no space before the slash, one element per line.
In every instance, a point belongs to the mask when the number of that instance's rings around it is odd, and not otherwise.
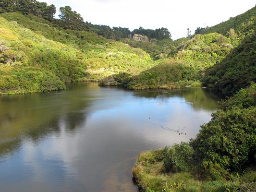
<path fill-rule="evenodd" d="M 60 8 L 59 19 L 54 5 L 36 0 L 1 0 L 0 8 L 0 94 L 61 90 L 77 81 L 145 89 L 201 80 L 231 94 L 255 81 L 256 7 L 174 41 L 163 27 L 130 31 L 85 22 L 70 6 Z"/>

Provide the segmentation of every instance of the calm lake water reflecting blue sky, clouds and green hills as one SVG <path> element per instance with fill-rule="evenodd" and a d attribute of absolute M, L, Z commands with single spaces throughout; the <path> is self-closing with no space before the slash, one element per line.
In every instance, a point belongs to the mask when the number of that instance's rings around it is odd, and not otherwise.
<path fill-rule="evenodd" d="M 1 192 L 136 192 L 139 153 L 194 138 L 217 100 L 202 88 L 97 84 L 0 96 Z"/>

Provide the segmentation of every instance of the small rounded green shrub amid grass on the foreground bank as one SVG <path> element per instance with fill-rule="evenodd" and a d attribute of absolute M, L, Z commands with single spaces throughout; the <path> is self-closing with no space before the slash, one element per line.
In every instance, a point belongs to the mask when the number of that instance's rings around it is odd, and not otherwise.
<path fill-rule="evenodd" d="M 166 171 L 188 171 L 191 169 L 193 148 L 188 143 L 174 144 L 171 147 L 165 147 L 164 168 Z"/>

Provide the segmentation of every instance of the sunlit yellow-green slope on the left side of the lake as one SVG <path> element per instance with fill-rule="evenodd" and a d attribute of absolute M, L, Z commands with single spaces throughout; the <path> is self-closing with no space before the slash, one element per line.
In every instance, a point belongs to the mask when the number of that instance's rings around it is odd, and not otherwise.
<path fill-rule="evenodd" d="M 58 90 L 64 82 L 138 74 L 154 65 L 141 49 L 33 15 L 1 14 L 0 39 L 0 94 Z"/>

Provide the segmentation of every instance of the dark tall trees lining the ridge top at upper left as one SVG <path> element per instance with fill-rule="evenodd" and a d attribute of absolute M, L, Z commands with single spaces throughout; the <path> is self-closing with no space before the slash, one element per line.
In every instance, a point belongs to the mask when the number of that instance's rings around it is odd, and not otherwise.
<path fill-rule="evenodd" d="M 39 2 L 37 0 L 0 0 L 0 13 L 3 12 L 21 12 L 28 15 L 33 14 L 38 18 L 44 18 L 52 23 L 55 23 L 65 29 L 81 30 L 97 33 L 108 39 L 120 40 L 121 38 L 130 38 L 132 32 L 128 28 L 113 27 L 107 25 L 98 25 L 84 22 L 81 15 L 75 11 L 72 11 L 70 6 L 64 6 L 60 8 L 60 19 L 55 19 L 56 7 L 47 5 L 45 2 Z M 143 29 L 143 28 L 140 28 Z M 135 29 L 134 31 L 139 30 Z M 171 34 L 166 28 L 159 28 L 156 30 L 139 30 L 139 33 L 148 34 L 149 37 L 157 39 L 171 38 Z"/>

